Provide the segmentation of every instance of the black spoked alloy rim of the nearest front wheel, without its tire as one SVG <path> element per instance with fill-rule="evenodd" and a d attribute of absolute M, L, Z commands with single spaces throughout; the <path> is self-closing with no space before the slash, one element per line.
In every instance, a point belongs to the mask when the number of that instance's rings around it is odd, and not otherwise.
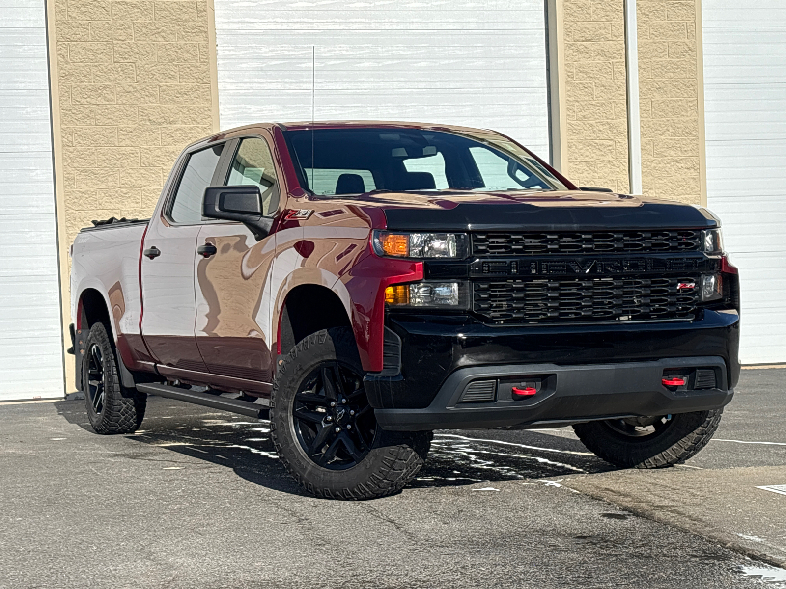
<path fill-rule="evenodd" d="M 339 362 L 325 362 L 304 379 L 292 419 L 303 452 L 329 470 L 362 462 L 376 435 L 362 376 Z"/>

